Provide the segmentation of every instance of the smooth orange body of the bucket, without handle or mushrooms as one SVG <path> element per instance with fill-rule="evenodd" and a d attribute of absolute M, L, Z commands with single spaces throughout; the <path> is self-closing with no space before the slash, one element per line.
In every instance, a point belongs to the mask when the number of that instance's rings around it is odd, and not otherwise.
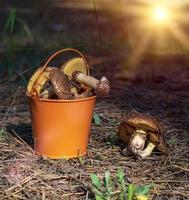
<path fill-rule="evenodd" d="M 34 148 L 48 158 L 86 154 L 96 97 L 77 100 L 29 97 Z"/>

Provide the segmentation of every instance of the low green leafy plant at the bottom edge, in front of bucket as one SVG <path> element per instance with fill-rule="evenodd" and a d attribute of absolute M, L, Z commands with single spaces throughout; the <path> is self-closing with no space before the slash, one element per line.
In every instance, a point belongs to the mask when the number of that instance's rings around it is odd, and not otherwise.
<path fill-rule="evenodd" d="M 118 169 L 114 179 L 108 171 L 102 180 L 96 174 L 91 174 L 91 181 L 96 200 L 148 200 L 151 188 L 151 185 L 126 184 L 122 169 Z"/>

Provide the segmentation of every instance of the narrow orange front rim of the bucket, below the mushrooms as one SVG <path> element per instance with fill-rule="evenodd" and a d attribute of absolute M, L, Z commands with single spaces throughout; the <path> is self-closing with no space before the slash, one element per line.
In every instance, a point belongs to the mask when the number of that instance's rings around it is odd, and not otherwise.
<path fill-rule="evenodd" d="M 96 95 L 94 95 L 92 97 L 82 98 L 82 99 L 70 99 L 70 100 L 65 100 L 65 99 L 44 99 L 44 98 L 38 97 L 37 95 L 28 96 L 29 99 L 32 99 L 34 97 L 36 97 L 39 101 L 52 102 L 52 103 L 71 103 L 71 102 L 82 102 L 82 101 L 89 101 L 89 100 L 92 100 L 92 99 L 96 99 Z"/>

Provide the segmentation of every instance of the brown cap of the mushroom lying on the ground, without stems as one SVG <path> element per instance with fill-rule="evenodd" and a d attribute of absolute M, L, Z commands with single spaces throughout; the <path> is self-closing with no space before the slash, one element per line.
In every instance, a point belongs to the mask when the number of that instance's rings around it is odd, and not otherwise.
<path fill-rule="evenodd" d="M 128 144 L 136 129 L 144 130 L 147 133 L 148 141 L 154 143 L 159 151 L 167 152 L 164 129 L 156 119 L 144 114 L 127 115 L 119 126 L 118 136 Z"/>

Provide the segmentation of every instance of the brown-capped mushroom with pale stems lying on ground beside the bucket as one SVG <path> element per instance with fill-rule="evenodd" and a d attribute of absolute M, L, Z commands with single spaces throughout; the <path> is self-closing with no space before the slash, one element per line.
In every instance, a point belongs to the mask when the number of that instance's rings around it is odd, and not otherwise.
<path fill-rule="evenodd" d="M 162 126 L 156 119 L 144 114 L 124 116 L 119 125 L 118 137 L 141 159 L 150 156 L 154 148 L 167 153 Z"/>

